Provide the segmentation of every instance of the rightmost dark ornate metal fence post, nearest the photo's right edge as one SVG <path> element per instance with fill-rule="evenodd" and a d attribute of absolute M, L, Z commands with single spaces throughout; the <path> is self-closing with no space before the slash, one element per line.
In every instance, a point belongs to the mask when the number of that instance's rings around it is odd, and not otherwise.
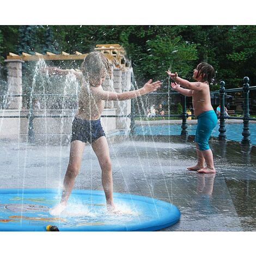
<path fill-rule="evenodd" d="M 250 144 L 250 131 L 249 131 L 249 78 L 243 78 L 243 131 L 242 131 L 242 144 Z"/>

